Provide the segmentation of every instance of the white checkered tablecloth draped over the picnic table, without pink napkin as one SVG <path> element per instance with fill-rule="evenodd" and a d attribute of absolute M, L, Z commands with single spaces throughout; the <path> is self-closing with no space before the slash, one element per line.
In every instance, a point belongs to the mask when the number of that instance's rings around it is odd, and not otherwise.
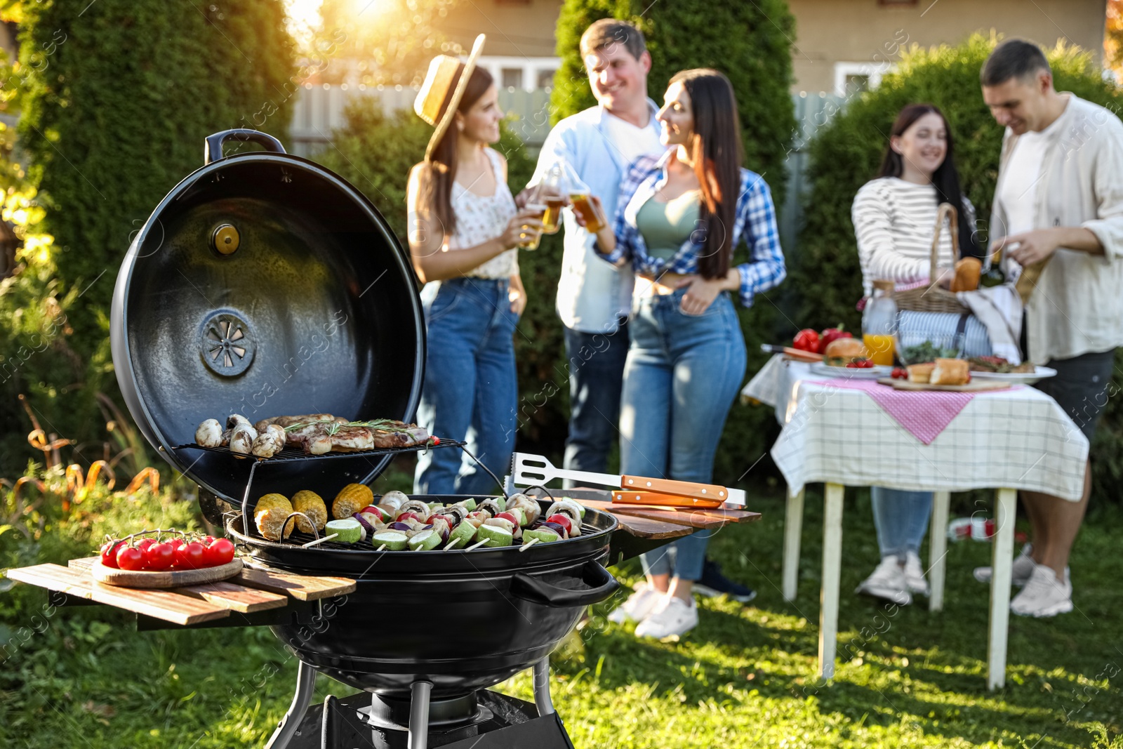
<path fill-rule="evenodd" d="M 982 392 L 924 445 L 860 390 L 777 355 L 741 391 L 784 426 L 772 456 L 795 493 L 804 484 L 914 491 L 1021 488 L 1079 500 L 1088 440 L 1034 387 Z"/>

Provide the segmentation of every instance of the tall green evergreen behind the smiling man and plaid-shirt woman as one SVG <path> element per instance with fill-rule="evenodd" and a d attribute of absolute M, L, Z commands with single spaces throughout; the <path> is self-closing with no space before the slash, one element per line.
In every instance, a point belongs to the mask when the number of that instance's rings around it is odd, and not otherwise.
<path fill-rule="evenodd" d="M 562 65 L 550 97 L 555 122 L 595 103 L 581 58 L 581 35 L 593 21 L 610 17 L 642 29 L 652 62 L 648 92 L 656 101 L 663 99 L 667 81 L 678 71 L 714 67 L 729 76 L 741 118 L 745 166 L 764 175 L 778 208 L 787 184 L 784 162 L 796 126 L 789 93 L 795 21 L 787 3 L 566 0 L 557 26 Z M 741 261 L 743 252 L 742 247 L 734 262 Z M 780 316 L 773 300 L 780 293 L 759 294 L 751 309 L 740 310 L 749 372 L 766 360 L 760 344 L 778 340 L 775 330 Z M 560 330 L 557 340 L 560 346 Z M 775 435 L 769 410 L 734 407 L 718 449 L 714 479 L 731 483 L 742 478 L 767 453 Z"/>

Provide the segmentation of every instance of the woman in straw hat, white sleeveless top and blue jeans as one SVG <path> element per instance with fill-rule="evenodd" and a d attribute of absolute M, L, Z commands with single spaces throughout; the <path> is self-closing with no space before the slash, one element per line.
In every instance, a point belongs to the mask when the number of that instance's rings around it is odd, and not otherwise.
<path fill-rule="evenodd" d="M 466 63 L 440 55 L 429 65 L 414 111 L 435 129 L 424 161 L 410 171 L 407 203 L 428 325 L 418 422 L 467 441 L 502 475 L 517 428 L 512 337 L 527 305 L 515 248 L 542 223 L 540 213 L 518 210 L 506 159 L 489 147 L 503 112 L 491 74 L 476 67 L 483 44 L 481 34 Z M 428 450 L 418 460 L 419 494 L 486 494 L 493 486 L 459 450 Z"/>

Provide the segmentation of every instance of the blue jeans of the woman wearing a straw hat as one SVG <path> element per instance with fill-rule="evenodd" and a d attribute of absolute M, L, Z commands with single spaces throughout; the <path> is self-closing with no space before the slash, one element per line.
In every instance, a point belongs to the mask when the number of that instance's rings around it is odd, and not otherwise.
<path fill-rule="evenodd" d="M 451 278 L 422 291 L 428 327 L 418 423 L 464 440 L 502 481 L 514 450 L 518 381 L 509 282 Z M 404 355 L 404 353 L 403 353 Z M 418 494 L 490 494 L 495 481 L 454 448 L 418 455 Z"/>

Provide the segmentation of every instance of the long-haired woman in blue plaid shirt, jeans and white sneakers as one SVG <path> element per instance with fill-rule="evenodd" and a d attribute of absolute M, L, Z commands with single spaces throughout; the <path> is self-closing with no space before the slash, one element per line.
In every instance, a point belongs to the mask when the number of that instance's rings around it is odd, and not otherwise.
<path fill-rule="evenodd" d="M 614 226 L 596 235 L 610 263 L 631 263 L 631 347 L 620 413 L 620 471 L 710 483 L 725 415 L 745 376 L 745 339 L 730 301 L 750 307 L 784 280 L 768 185 L 741 168 L 741 127 L 729 79 L 678 73 L 659 110 L 658 159 L 641 158 L 621 185 Z M 595 198 L 594 198 L 595 200 Z M 732 264 L 741 239 L 749 259 Z M 664 638 L 697 624 L 692 587 L 709 531 L 642 556 L 647 583 L 614 621 Z"/>

